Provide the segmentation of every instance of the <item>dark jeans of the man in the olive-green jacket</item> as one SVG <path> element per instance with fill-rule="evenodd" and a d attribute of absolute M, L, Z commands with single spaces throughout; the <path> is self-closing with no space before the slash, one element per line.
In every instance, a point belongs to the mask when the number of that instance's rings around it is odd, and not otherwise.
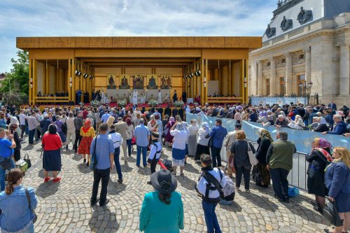
<path fill-rule="evenodd" d="M 287 176 L 289 171 L 286 169 L 276 168 L 269 169 L 272 179 L 272 188 L 274 188 L 274 194 L 280 199 L 288 199 L 288 180 Z"/>

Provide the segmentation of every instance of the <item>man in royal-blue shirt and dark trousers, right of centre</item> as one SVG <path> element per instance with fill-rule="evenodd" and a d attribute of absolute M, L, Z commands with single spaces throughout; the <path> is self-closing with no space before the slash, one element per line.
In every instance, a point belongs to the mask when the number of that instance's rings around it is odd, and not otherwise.
<path fill-rule="evenodd" d="M 228 131 L 222 126 L 222 124 L 223 122 L 221 119 L 216 119 L 216 127 L 211 129 L 209 134 L 213 141 L 213 144 L 210 146 L 213 167 L 221 167 L 221 147 L 223 146 L 223 139 L 225 139 L 225 136 L 228 134 Z M 217 164 L 216 160 L 218 161 Z"/>

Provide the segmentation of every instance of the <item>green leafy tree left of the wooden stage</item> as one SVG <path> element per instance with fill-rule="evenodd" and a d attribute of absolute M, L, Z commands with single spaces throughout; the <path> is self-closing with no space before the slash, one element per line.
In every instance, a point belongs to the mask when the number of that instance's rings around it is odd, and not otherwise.
<path fill-rule="evenodd" d="M 17 51 L 18 59 L 11 59 L 13 69 L 7 73 L 6 78 L 0 83 L 0 92 L 28 95 L 29 92 L 29 57 L 28 52 Z"/>

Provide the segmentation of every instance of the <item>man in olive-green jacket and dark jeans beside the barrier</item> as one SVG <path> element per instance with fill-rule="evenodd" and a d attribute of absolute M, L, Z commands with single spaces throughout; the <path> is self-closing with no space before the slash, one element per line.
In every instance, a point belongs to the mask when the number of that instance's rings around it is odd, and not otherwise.
<path fill-rule="evenodd" d="M 288 140 L 287 132 L 277 132 L 276 141 L 267 150 L 266 164 L 271 174 L 274 197 L 280 202 L 289 203 L 287 176 L 293 167 L 295 145 Z"/>

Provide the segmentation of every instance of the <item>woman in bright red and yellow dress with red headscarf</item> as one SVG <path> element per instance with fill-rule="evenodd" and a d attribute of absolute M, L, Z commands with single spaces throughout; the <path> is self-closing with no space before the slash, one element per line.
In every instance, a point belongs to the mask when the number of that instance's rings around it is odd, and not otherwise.
<path fill-rule="evenodd" d="M 81 127 L 80 136 L 82 136 L 83 139 L 81 139 L 81 142 L 79 144 L 78 154 L 83 155 L 84 163 L 86 162 L 87 155 L 86 166 L 88 167 L 90 164 L 90 146 L 92 139 L 94 138 L 94 127 L 91 126 L 91 122 L 89 119 L 85 120 L 83 127 Z"/>

